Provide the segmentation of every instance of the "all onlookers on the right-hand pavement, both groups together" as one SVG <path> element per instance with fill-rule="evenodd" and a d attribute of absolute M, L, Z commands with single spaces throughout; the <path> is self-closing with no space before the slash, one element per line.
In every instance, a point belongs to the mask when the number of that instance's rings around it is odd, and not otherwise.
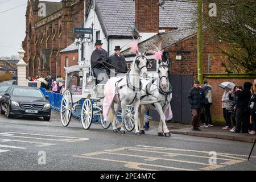
<path fill-rule="evenodd" d="M 199 81 L 194 82 L 193 88 L 188 93 L 188 101 L 192 111 L 191 129 L 200 131 L 200 127 L 213 126 L 210 115 L 212 86 L 208 84 L 207 80 L 203 81 L 203 86 L 200 86 Z M 255 134 L 256 79 L 253 83 L 245 82 L 243 87 L 229 88 L 226 86 L 221 102 L 225 119 L 225 126 L 222 129 L 230 130 L 232 133 Z"/>

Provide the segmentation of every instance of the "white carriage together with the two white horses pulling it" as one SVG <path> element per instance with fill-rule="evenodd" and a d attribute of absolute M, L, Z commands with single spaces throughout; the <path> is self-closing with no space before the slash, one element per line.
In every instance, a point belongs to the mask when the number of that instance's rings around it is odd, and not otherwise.
<path fill-rule="evenodd" d="M 168 81 L 168 63 L 163 63 L 162 59 L 159 60 L 158 77 L 149 79 L 146 78 L 147 63 L 146 56 L 137 50 L 137 56 L 130 71 L 119 79 L 118 84 L 115 84 L 115 97 L 113 97 L 113 102 L 110 103 L 108 111 L 108 115 L 113 115 L 113 121 L 110 121 L 103 111 L 104 89 L 111 86 L 108 85 L 109 81 L 106 85 L 96 84 L 97 79 L 93 76 L 90 61 L 66 69 L 66 90 L 60 107 L 62 125 L 68 126 L 72 113 L 77 106 L 82 105 L 81 123 L 84 129 L 88 130 L 90 128 L 93 119 L 100 119 L 104 129 L 108 129 L 112 123 L 115 133 L 118 132 L 118 126 L 123 134 L 125 133 L 124 127 L 127 131 L 132 131 L 135 127 L 135 134 L 141 135 L 144 134 L 144 112 L 151 108 L 153 104 L 153 107 L 160 114 L 158 135 L 170 137 L 170 132 L 165 123 L 166 117 L 164 116 L 168 105 L 170 105 L 172 89 Z M 142 84 L 143 80 L 144 84 Z M 143 92 L 144 96 L 142 96 Z M 122 109 L 121 113 L 119 109 Z M 122 117 L 121 122 L 118 122 L 118 115 Z"/>

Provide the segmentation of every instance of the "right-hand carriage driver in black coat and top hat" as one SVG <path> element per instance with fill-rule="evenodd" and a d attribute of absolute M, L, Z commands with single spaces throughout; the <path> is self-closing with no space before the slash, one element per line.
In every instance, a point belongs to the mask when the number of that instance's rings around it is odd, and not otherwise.
<path fill-rule="evenodd" d="M 114 55 L 110 56 L 110 68 L 115 71 L 115 75 L 119 73 L 127 73 L 127 63 L 125 60 L 125 56 L 121 55 L 121 48 L 120 46 L 115 46 Z"/>

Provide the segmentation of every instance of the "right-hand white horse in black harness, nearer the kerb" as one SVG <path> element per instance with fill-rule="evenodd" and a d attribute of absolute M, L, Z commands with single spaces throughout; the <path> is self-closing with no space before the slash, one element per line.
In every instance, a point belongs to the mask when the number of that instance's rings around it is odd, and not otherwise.
<path fill-rule="evenodd" d="M 145 134 L 143 126 L 146 111 L 148 109 L 156 109 L 160 115 L 158 136 L 171 137 L 170 131 L 166 125 L 165 115 L 172 99 L 172 86 L 168 80 L 168 63 L 169 60 L 167 60 L 166 63 L 164 63 L 162 59 L 159 60 L 158 78 L 153 78 L 152 81 L 149 82 L 145 87 L 146 96 L 142 96 L 143 98 L 141 98 L 141 101 L 158 100 L 159 102 L 155 102 L 154 104 L 141 105 L 141 108 L 139 109 L 139 130 L 141 134 Z"/>

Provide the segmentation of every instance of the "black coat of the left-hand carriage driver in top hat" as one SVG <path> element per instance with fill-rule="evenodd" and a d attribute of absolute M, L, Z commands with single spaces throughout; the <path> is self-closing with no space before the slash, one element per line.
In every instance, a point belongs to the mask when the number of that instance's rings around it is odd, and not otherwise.
<path fill-rule="evenodd" d="M 108 60 L 108 53 L 104 49 L 96 49 L 90 56 L 90 64 L 92 65 L 92 68 L 100 67 L 101 64 L 104 64 L 104 62 L 107 62 Z"/>

